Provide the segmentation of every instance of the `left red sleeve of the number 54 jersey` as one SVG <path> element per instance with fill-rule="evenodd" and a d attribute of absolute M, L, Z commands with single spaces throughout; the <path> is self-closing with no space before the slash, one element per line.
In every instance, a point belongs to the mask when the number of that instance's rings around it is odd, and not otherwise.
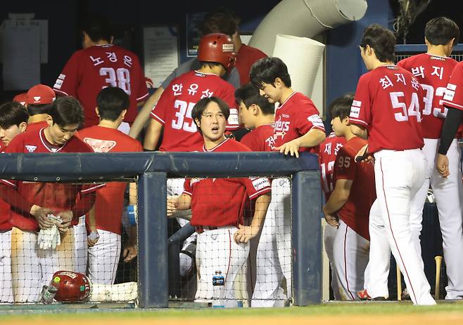
<path fill-rule="evenodd" d="M 349 120 L 353 124 L 368 126 L 372 122 L 372 107 L 370 106 L 369 95 L 369 76 L 367 74 L 360 77 L 357 90 L 355 91 L 354 100 L 350 107 Z"/>

